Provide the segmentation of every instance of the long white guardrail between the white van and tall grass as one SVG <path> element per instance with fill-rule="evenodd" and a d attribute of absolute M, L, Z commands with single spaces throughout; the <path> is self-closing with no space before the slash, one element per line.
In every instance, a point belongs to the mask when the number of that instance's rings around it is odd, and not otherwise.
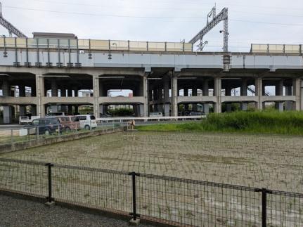
<path fill-rule="evenodd" d="M 149 122 L 149 121 L 186 121 L 186 120 L 196 120 L 205 118 L 206 115 L 199 116 L 181 116 L 181 117 L 101 117 L 97 118 L 98 122 L 127 122 L 127 121 L 141 121 L 141 122 Z"/>

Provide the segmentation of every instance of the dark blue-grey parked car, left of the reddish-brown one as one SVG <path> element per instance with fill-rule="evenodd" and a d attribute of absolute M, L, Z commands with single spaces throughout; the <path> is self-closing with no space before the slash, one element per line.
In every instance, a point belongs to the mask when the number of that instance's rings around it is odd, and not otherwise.
<path fill-rule="evenodd" d="M 56 118 L 38 118 L 34 119 L 30 124 L 25 124 L 25 129 L 29 129 L 30 134 L 45 134 L 49 136 L 55 132 L 62 132 L 63 126 Z"/>

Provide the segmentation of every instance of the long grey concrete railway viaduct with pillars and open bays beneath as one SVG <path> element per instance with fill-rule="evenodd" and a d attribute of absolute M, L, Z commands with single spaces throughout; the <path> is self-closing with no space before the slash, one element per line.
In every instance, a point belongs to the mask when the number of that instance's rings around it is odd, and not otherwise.
<path fill-rule="evenodd" d="M 242 110 L 249 103 L 258 110 L 265 103 L 275 103 L 281 111 L 303 110 L 302 54 L 201 53 L 184 48 L 188 44 L 169 49 L 166 43 L 158 50 L 148 48 L 148 42 L 143 49 L 132 49 L 129 41 L 127 49 L 110 41 L 105 48 L 92 48 L 90 42 L 85 48 L 80 40 L 74 46 L 68 41 L 68 46 L 56 47 L 49 40 L 47 46 L 38 41 L 30 46 L 26 40 L 22 46 L 18 39 L 11 46 L 8 40 L 1 46 L 0 40 L 4 123 L 12 121 L 16 106 L 20 116 L 28 109 L 44 116 L 48 107 L 72 113 L 80 105 L 91 105 L 100 117 L 108 105 L 125 104 L 142 117 L 150 112 L 178 116 L 198 105 L 205 114 L 221 112 L 223 104 L 230 111 L 231 103 L 240 103 Z M 266 86 L 273 86 L 273 93 L 267 93 Z M 239 92 L 232 92 L 236 88 Z M 129 89 L 133 96 L 110 97 L 112 89 Z M 85 90 L 92 94 L 78 95 Z"/>

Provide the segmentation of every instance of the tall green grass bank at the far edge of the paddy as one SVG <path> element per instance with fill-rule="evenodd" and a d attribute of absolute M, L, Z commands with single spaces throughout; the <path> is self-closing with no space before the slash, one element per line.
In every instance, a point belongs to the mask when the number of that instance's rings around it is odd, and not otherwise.
<path fill-rule="evenodd" d="M 303 112 L 231 112 L 210 114 L 201 122 L 137 127 L 140 131 L 209 131 L 303 135 Z"/>

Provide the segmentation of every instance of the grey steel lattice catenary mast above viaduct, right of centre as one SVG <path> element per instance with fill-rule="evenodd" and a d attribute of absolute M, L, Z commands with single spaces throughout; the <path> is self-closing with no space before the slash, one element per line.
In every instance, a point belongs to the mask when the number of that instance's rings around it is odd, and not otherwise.
<path fill-rule="evenodd" d="M 212 20 L 209 22 L 208 18 L 212 18 Z M 191 44 L 195 44 L 197 41 L 200 40 L 200 44 L 198 45 L 200 48 L 200 51 L 203 50 L 204 46 L 203 45 L 203 37 L 205 36 L 205 34 L 207 34 L 207 32 L 209 32 L 210 30 L 212 30 L 216 25 L 219 24 L 219 22 L 221 22 L 222 20 L 224 20 L 224 30 L 220 31 L 220 32 L 224 32 L 224 52 L 228 52 L 228 8 L 223 8 L 222 11 L 220 13 L 218 13 L 218 15 L 216 15 L 216 6 L 214 6 L 212 8 L 212 11 L 210 11 L 207 14 L 207 25 L 198 33 L 195 35 L 195 37 L 193 37 L 193 39 L 191 39 L 191 41 L 189 41 Z"/>

